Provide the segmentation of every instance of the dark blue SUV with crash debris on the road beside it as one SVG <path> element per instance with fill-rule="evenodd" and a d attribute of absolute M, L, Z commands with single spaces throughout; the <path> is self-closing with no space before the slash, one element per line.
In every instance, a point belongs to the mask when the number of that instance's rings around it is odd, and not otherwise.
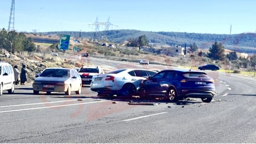
<path fill-rule="evenodd" d="M 211 102 L 216 90 L 214 80 L 204 72 L 163 70 L 140 84 L 142 98 L 162 96 L 175 102 L 183 98 L 201 98 Z"/>

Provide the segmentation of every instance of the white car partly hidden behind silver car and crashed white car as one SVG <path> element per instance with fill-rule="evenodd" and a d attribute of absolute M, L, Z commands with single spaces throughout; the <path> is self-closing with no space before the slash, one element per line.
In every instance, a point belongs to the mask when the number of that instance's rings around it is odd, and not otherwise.
<path fill-rule="evenodd" d="M 83 66 L 80 68 L 79 75 L 82 78 L 82 85 L 90 86 L 92 76 L 96 74 L 104 74 L 104 71 L 100 66 Z"/>

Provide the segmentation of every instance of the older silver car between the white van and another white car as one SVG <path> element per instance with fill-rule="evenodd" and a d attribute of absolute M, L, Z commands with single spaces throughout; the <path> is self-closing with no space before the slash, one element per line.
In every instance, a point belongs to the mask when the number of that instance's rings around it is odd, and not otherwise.
<path fill-rule="evenodd" d="M 82 92 L 82 80 L 78 72 L 70 68 L 46 68 L 40 75 L 36 75 L 33 83 L 34 94 L 40 91 L 50 94 L 51 92 L 65 92 L 70 95 Z"/>

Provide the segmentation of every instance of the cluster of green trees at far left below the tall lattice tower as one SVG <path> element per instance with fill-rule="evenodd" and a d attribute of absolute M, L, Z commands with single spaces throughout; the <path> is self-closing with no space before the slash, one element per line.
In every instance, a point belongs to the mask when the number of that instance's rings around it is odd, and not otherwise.
<path fill-rule="evenodd" d="M 0 31 L 0 48 L 4 48 L 14 54 L 24 54 L 28 52 L 28 55 L 36 49 L 32 38 L 26 38 L 25 34 L 15 31 L 7 32 L 6 29 Z"/>

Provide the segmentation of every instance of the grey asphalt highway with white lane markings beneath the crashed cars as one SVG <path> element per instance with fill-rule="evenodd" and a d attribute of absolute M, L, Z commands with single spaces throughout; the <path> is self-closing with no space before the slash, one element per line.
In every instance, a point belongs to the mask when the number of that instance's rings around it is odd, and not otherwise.
<path fill-rule="evenodd" d="M 115 68 L 173 67 L 82 58 Z M 122 98 L 82 94 L 40 93 L 31 87 L 0 96 L 1 143 L 256 143 L 256 79 L 206 71 L 217 93 L 210 103 L 200 99 L 181 104 L 129 105 Z M 133 101 L 144 101 L 136 98 Z M 113 104 L 112 102 L 118 102 Z M 169 108 L 168 108 L 169 106 Z"/>

